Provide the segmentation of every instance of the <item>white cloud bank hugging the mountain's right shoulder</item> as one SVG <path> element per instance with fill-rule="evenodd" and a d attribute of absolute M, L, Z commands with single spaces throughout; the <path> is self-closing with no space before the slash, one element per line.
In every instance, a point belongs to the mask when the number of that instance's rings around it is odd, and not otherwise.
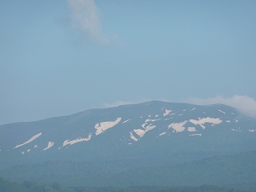
<path fill-rule="evenodd" d="M 249 96 L 232 96 L 230 98 L 224 96 L 215 96 L 207 99 L 189 98 L 185 102 L 196 105 L 211 105 L 221 103 L 236 108 L 242 113 L 256 117 L 256 101 Z"/>

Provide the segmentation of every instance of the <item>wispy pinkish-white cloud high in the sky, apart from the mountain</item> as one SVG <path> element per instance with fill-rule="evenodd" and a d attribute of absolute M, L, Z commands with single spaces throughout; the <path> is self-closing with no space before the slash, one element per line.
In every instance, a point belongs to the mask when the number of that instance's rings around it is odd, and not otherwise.
<path fill-rule="evenodd" d="M 67 4 L 71 11 L 72 28 L 82 32 L 86 39 L 101 46 L 111 43 L 123 46 L 116 33 L 108 35 L 102 32 L 100 9 L 94 0 L 67 0 Z"/>

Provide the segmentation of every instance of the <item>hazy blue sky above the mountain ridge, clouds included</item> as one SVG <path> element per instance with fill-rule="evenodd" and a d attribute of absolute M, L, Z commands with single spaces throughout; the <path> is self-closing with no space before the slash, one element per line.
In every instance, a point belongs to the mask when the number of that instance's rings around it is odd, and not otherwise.
<path fill-rule="evenodd" d="M 254 0 L 3 0 L 0 125 L 148 100 L 256 112 L 255 9 Z"/>

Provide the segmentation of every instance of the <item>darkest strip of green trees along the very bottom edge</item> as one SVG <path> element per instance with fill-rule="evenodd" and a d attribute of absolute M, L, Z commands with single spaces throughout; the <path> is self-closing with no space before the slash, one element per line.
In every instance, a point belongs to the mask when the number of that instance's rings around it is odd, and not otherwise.
<path fill-rule="evenodd" d="M 134 187 L 63 187 L 60 183 L 37 184 L 32 181 L 15 183 L 0 177 L 1 192 L 253 192 L 253 190 L 236 190 L 214 185 L 160 187 L 160 186 L 134 186 Z"/>

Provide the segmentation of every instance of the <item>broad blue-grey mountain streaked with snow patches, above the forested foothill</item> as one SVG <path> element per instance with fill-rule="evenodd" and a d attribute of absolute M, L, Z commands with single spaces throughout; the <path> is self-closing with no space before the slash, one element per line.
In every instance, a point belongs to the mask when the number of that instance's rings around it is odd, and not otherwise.
<path fill-rule="evenodd" d="M 47 162 L 87 167 L 90 172 L 84 171 L 83 177 L 113 175 L 255 149 L 256 119 L 236 108 L 153 101 L 1 125 L 0 175 Z M 68 169 L 63 175 L 78 176 Z"/>

